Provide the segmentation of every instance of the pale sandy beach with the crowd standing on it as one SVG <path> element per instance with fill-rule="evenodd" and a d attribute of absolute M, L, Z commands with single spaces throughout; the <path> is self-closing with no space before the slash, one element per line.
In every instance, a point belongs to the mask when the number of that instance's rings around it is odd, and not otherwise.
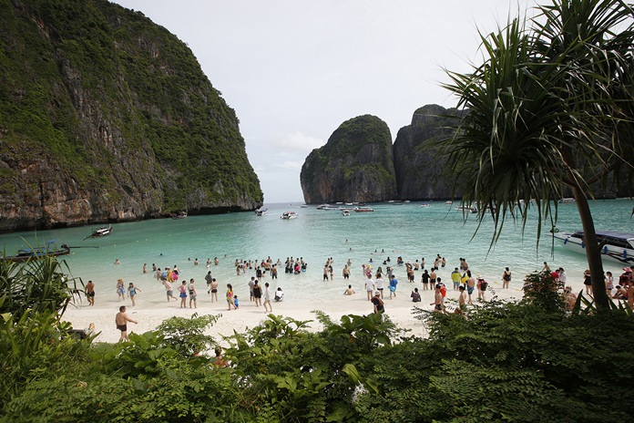
<path fill-rule="evenodd" d="M 439 271 L 443 280 L 449 281 L 446 284 L 447 312 L 453 312 L 455 309 L 459 293 L 453 289 L 449 278 L 449 273 L 452 270 L 445 268 Z M 399 271 L 402 271 L 402 269 L 396 269 L 397 274 Z M 310 278 L 311 284 L 316 287 L 314 296 L 309 300 L 293 298 L 293 290 L 287 288 L 284 290 L 284 300 L 275 302 L 272 300 L 274 289 L 271 289 L 273 315 L 291 317 L 298 321 L 312 320 L 311 329 L 319 330 L 321 326 L 315 320 L 315 315 L 312 313 L 313 310 L 319 310 L 330 315 L 335 322 L 338 322 L 342 315 L 368 315 L 373 313 L 373 304 L 367 300 L 364 288 L 365 278 L 361 272 L 355 272 L 357 274 L 351 277 L 350 282 L 343 280 L 341 275 L 335 275 L 332 281 L 322 281 L 321 269 L 312 269 L 312 272 L 314 274 L 301 276 L 304 279 Z M 404 276 L 404 271 L 400 273 L 403 273 Z M 396 296 L 393 299 L 389 299 L 389 291 L 385 288 L 383 302 L 385 304 L 385 315 L 397 327 L 408 329 L 410 335 L 425 336 L 427 335 L 427 329 L 424 322 L 415 319 L 412 312 L 414 305 L 423 310 L 432 311 L 434 306 L 430 305 L 430 303 L 434 301 L 434 291 L 423 289 L 423 284 L 420 282 L 420 274 L 420 271 L 416 273 L 417 278 L 414 283 L 408 283 L 404 277 L 400 278 Z M 296 275 L 282 273 L 280 277 L 280 280 L 292 280 Z M 120 335 L 115 326 L 115 315 L 120 305 L 126 305 L 128 316 L 138 321 L 138 325 L 128 325 L 128 331 L 137 334 L 156 329 L 163 320 L 171 316 L 220 315 L 219 320 L 207 332 L 213 335 L 217 342 L 224 344 L 222 343 L 222 336 L 232 335 L 234 330 L 241 332 L 247 328 L 252 328 L 267 318 L 263 306 L 256 306 L 249 301 L 248 281 L 250 273 L 243 275 L 240 279 L 243 281 L 241 285 L 233 281 L 234 291 L 240 298 L 238 310 L 233 308 L 227 310 L 227 303 L 224 299 L 226 289 L 222 286 L 219 287 L 218 293 L 220 301 L 211 303 L 210 294 L 207 294 L 207 287 L 203 281 L 197 287 L 198 308 L 189 308 L 189 299 L 187 301 L 188 307 L 180 308 L 179 300 L 170 300 L 169 303 L 166 301 L 165 290 L 160 282 L 157 280 L 146 280 L 145 282 L 147 283 L 137 284 L 142 286 L 142 291 L 137 294 L 137 305 L 134 307 L 128 297 L 124 301 L 118 301 L 113 284 L 111 287 L 108 286 L 104 290 L 105 292 L 99 292 L 97 288 L 96 305 L 94 306 L 87 303 L 86 297 L 83 297 L 81 302 L 76 301 L 74 304 L 70 304 L 63 320 L 70 322 L 75 329 L 87 329 L 90 324 L 94 324 L 95 331 L 99 333 L 96 338 L 97 342 L 114 343 L 118 342 Z M 270 281 L 270 279 L 265 279 L 265 281 Z M 348 284 L 353 285 L 356 294 L 343 294 Z M 522 284 L 523 282 L 517 279 L 511 282 L 508 289 L 502 289 L 499 282 L 492 282 L 486 291 L 486 299 L 491 300 L 494 295 L 500 300 L 518 299 L 522 295 Z M 338 289 L 334 288 L 336 286 L 338 286 Z M 326 287 L 328 289 L 324 289 Z M 420 303 L 414 304 L 410 297 L 414 287 L 417 287 L 421 294 L 422 301 Z M 339 294 L 333 294 L 335 291 Z M 175 295 L 178 296 L 178 291 L 175 291 Z M 477 292 L 475 291 L 473 294 L 475 304 L 477 304 L 476 298 Z"/>

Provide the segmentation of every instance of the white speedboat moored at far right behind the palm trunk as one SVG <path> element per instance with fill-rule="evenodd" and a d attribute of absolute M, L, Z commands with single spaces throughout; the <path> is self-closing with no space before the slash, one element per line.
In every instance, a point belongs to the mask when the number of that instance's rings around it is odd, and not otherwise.
<path fill-rule="evenodd" d="M 568 250 L 585 253 L 586 242 L 583 231 L 574 233 L 552 231 L 557 240 L 564 243 Z M 601 258 L 617 263 L 634 264 L 634 233 L 597 231 Z"/>

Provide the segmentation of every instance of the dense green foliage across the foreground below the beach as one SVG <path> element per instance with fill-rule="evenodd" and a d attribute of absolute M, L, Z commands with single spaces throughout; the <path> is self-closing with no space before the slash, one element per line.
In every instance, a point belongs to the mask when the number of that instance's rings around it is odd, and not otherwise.
<path fill-rule="evenodd" d="M 70 336 L 46 306 L 3 313 L 0 421 L 628 420 L 614 404 L 634 400 L 631 314 L 582 301 L 571 313 L 548 273 L 527 281 L 519 303 L 417 310 L 427 339 L 386 315 L 269 315 L 223 341 L 227 367 L 206 354 L 218 316 L 172 318 L 108 345 Z"/>

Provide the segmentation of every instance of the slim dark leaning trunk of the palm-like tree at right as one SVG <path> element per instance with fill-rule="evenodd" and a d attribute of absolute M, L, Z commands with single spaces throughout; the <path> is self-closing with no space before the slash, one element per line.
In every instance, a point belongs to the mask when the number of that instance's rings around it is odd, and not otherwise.
<path fill-rule="evenodd" d="M 578 187 L 573 187 L 573 193 L 583 227 L 583 241 L 586 244 L 586 257 L 588 258 L 588 268 L 590 269 L 590 278 L 592 280 L 592 296 L 597 305 L 597 311 L 599 313 L 607 312 L 609 310 L 609 300 L 603 273 L 603 262 L 601 261 L 601 249 L 598 246 L 597 231 L 592 221 L 588 198 Z"/>

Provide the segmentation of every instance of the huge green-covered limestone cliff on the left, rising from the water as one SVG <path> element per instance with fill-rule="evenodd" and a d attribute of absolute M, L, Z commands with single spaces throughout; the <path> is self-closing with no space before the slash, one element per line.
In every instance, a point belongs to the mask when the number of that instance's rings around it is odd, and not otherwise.
<path fill-rule="evenodd" d="M 165 28 L 105 0 L 0 16 L 0 231 L 261 205 L 234 110 Z"/>

